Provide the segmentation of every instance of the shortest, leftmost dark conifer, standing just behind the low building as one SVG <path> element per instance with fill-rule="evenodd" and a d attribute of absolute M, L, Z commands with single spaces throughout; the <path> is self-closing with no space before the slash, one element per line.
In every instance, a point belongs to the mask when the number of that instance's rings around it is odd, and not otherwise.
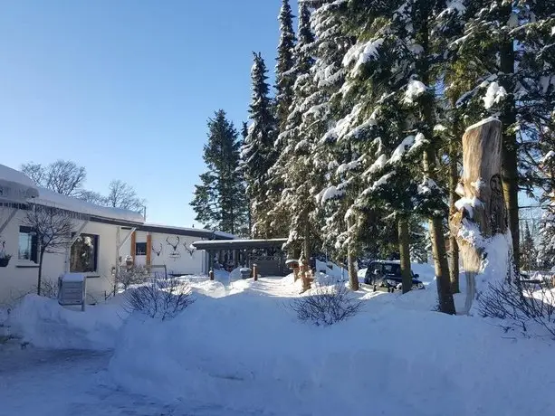
<path fill-rule="evenodd" d="M 227 120 L 225 111 L 208 119 L 208 143 L 204 147 L 207 172 L 200 175 L 191 206 L 196 221 L 206 228 L 244 235 L 247 204 L 244 181 L 239 167 L 237 131 Z"/>

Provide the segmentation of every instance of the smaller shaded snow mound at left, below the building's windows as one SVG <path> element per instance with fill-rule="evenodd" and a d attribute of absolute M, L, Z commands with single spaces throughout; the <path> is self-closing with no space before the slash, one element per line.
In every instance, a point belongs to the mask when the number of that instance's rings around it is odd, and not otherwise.
<path fill-rule="evenodd" d="M 116 303 L 81 312 L 61 307 L 54 299 L 27 295 L 15 307 L 10 323 L 14 333 L 38 347 L 108 350 L 127 315 Z"/>

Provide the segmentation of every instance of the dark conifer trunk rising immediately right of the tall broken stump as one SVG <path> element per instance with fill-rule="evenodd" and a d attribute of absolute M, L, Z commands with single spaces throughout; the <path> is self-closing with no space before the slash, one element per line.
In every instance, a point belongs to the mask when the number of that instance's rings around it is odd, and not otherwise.
<path fill-rule="evenodd" d="M 506 6 L 506 15 L 509 17 L 512 13 L 512 6 Z M 514 46 L 511 40 L 502 43 L 500 49 L 501 71 L 506 74 L 514 72 Z M 512 261 L 514 267 L 519 269 L 520 262 L 520 229 L 519 229 L 519 171 L 518 171 L 518 151 L 516 135 L 507 131 L 514 123 L 516 123 L 516 109 L 514 90 L 512 83 L 508 79 L 502 78 L 502 87 L 507 90 L 510 102 L 507 102 L 501 113 L 501 121 L 505 130 L 502 133 L 502 187 L 504 199 L 507 207 L 509 229 L 512 235 Z"/>

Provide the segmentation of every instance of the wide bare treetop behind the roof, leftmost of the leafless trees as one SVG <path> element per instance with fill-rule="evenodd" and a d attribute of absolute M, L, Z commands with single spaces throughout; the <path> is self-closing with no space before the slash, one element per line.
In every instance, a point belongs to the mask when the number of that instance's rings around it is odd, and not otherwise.
<path fill-rule="evenodd" d="M 30 162 L 22 165 L 21 171 L 28 175 L 35 184 L 58 194 L 70 196 L 79 194 L 87 177 L 85 168 L 70 160 L 56 160 L 49 165 Z"/>

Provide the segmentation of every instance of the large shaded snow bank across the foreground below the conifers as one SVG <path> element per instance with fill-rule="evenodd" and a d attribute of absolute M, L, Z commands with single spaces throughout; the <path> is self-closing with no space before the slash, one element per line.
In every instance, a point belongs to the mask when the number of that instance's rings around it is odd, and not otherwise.
<path fill-rule="evenodd" d="M 407 306 L 422 292 L 368 295 L 359 316 L 330 327 L 301 324 L 283 298 L 261 292 L 199 298 L 171 321 L 130 317 L 110 376 L 132 392 L 249 414 L 550 413 L 550 383 L 541 383 L 555 364 L 550 345 L 381 301 Z M 531 357 L 542 364 L 522 371 L 516 362 Z"/>

